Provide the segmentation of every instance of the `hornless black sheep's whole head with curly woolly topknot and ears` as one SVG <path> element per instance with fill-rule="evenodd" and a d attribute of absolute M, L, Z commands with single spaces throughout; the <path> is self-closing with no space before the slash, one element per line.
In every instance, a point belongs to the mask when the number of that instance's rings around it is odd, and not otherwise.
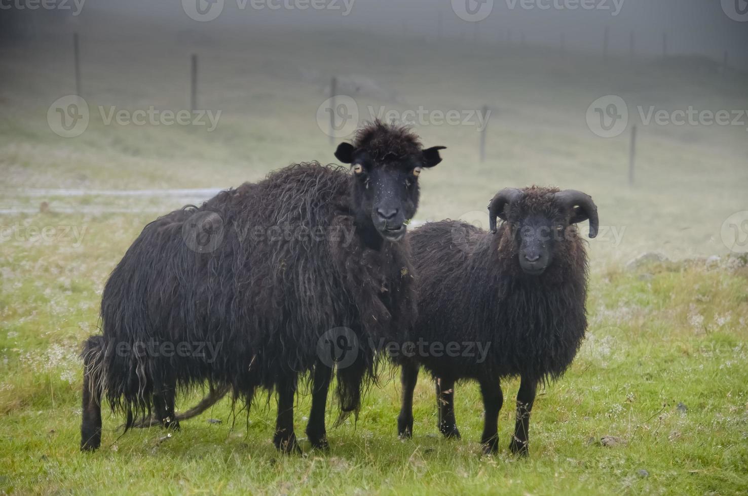
<path fill-rule="evenodd" d="M 418 207 L 418 176 L 441 162 L 440 149 L 423 149 L 407 128 L 379 121 L 361 128 L 353 143 L 340 143 L 335 157 L 351 164 L 357 220 L 370 221 L 387 241 L 402 239 Z"/>

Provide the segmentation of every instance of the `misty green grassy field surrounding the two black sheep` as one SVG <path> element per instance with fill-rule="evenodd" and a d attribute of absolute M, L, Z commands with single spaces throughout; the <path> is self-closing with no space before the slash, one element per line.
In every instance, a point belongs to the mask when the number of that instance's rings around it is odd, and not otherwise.
<path fill-rule="evenodd" d="M 46 114 L 74 90 L 67 34 L 0 47 L 0 210 L 18 211 L 0 215 L 0 492 L 748 493 L 748 268 L 720 235 L 730 215 L 748 210 L 746 129 L 640 126 L 629 187 L 628 133 L 605 140 L 585 124 L 589 104 L 608 94 L 634 115 L 637 105 L 748 108 L 747 78 L 684 75 L 654 61 L 602 69 L 532 47 L 435 50 L 361 37 L 341 46 L 325 34 L 234 32 L 177 43 L 151 28 L 126 39 L 116 29 L 82 32 L 89 107 L 185 108 L 197 52 L 201 106 L 222 111 L 215 131 L 105 125 L 92 110 L 82 135 L 58 137 Z M 142 226 L 182 200 L 38 190 L 229 187 L 292 162 L 333 161 L 315 118 L 331 74 L 396 94 L 353 95 L 361 109 L 494 109 L 483 163 L 474 126 L 417 126 L 426 145 L 449 147 L 422 175 L 419 220 L 473 220 L 496 190 L 536 183 L 591 194 L 617 233 L 590 242 L 589 335 L 539 395 L 530 457 L 506 449 L 516 382 L 504 388 L 497 456 L 480 456 L 476 385 L 456 391 L 462 441 L 444 441 L 425 374 L 414 438 L 399 441 L 397 371 L 370 391 L 358 422 L 328 431 L 328 453 L 302 442 L 304 456 L 279 456 L 266 396 L 248 418 L 224 400 L 171 437 L 151 429 L 119 438 L 123 418 L 105 415 L 102 449 L 79 453 L 79 345 L 97 332 L 105 279 Z M 41 201 L 49 211 L 38 212 Z M 668 259 L 626 267 L 652 250 Z M 302 391 L 299 434 L 308 407 Z"/>

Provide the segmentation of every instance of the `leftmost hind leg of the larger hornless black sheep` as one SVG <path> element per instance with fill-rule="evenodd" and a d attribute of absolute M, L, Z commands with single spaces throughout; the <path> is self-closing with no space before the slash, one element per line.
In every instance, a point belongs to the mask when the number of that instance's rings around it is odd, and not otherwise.
<path fill-rule="evenodd" d="M 83 344 L 82 451 L 93 451 L 101 445 L 101 396 L 105 387 L 104 349 L 103 336 L 91 336 Z"/>

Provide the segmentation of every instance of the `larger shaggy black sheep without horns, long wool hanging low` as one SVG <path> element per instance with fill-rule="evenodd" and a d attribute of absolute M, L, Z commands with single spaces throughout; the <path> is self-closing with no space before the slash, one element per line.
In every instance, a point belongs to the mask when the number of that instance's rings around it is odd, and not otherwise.
<path fill-rule="evenodd" d="M 256 388 L 275 389 L 275 445 L 298 451 L 293 400 L 304 373 L 307 435 L 326 447 L 334 364 L 318 344 L 330 329 L 355 334 L 337 394 L 343 413 L 357 412 L 375 372 L 371 344 L 416 317 L 407 245 L 396 241 L 418 205 L 417 176 L 441 161 L 441 148 L 375 122 L 338 146 L 350 171 L 295 164 L 145 226 L 105 285 L 102 335 L 85 343 L 82 450 L 101 442 L 102 395 L 125 413 L 125 430 L 152 410 L 177 429 L 176 391 L 207 382 L 247 406 Z"/>

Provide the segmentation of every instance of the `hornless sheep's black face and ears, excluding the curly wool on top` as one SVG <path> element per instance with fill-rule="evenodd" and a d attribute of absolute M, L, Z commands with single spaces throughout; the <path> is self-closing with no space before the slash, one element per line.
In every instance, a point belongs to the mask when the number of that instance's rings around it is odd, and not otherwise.
<path fill-rule="evenodd" d="M 387 241 L 405 236 L 405 223 L 418 207 L 418 176 L 426 167 L 441 161 L 435 146 L 408 155 L 384 155 L 378 159 L 367 149 L 349 143 L 338 146 L 335 156 L 351 164 L 353 209 L 359 220 L 370 220 L 376 232 Z"/>

